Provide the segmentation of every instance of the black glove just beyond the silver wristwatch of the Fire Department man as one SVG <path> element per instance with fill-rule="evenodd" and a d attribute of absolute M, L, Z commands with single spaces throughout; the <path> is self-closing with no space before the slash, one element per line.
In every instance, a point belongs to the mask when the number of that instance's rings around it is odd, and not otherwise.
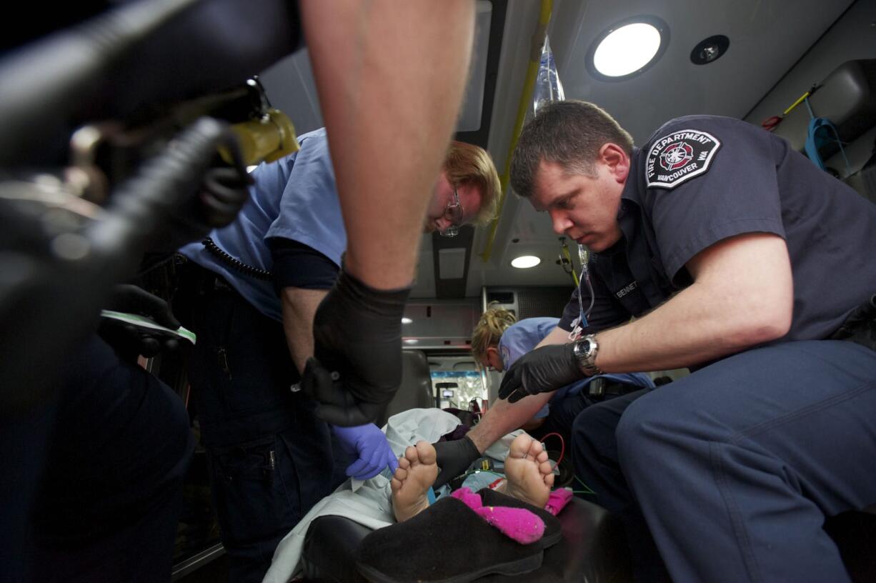
<path fill-rule="evenodd" d="M 553 392 L 583 378 L 578 359 L 572 352 L 574 347 L 574 344 L 549 344 L 521 356 L 502 378 L 498 397 L 517 403 L 527 395 Z"/>

